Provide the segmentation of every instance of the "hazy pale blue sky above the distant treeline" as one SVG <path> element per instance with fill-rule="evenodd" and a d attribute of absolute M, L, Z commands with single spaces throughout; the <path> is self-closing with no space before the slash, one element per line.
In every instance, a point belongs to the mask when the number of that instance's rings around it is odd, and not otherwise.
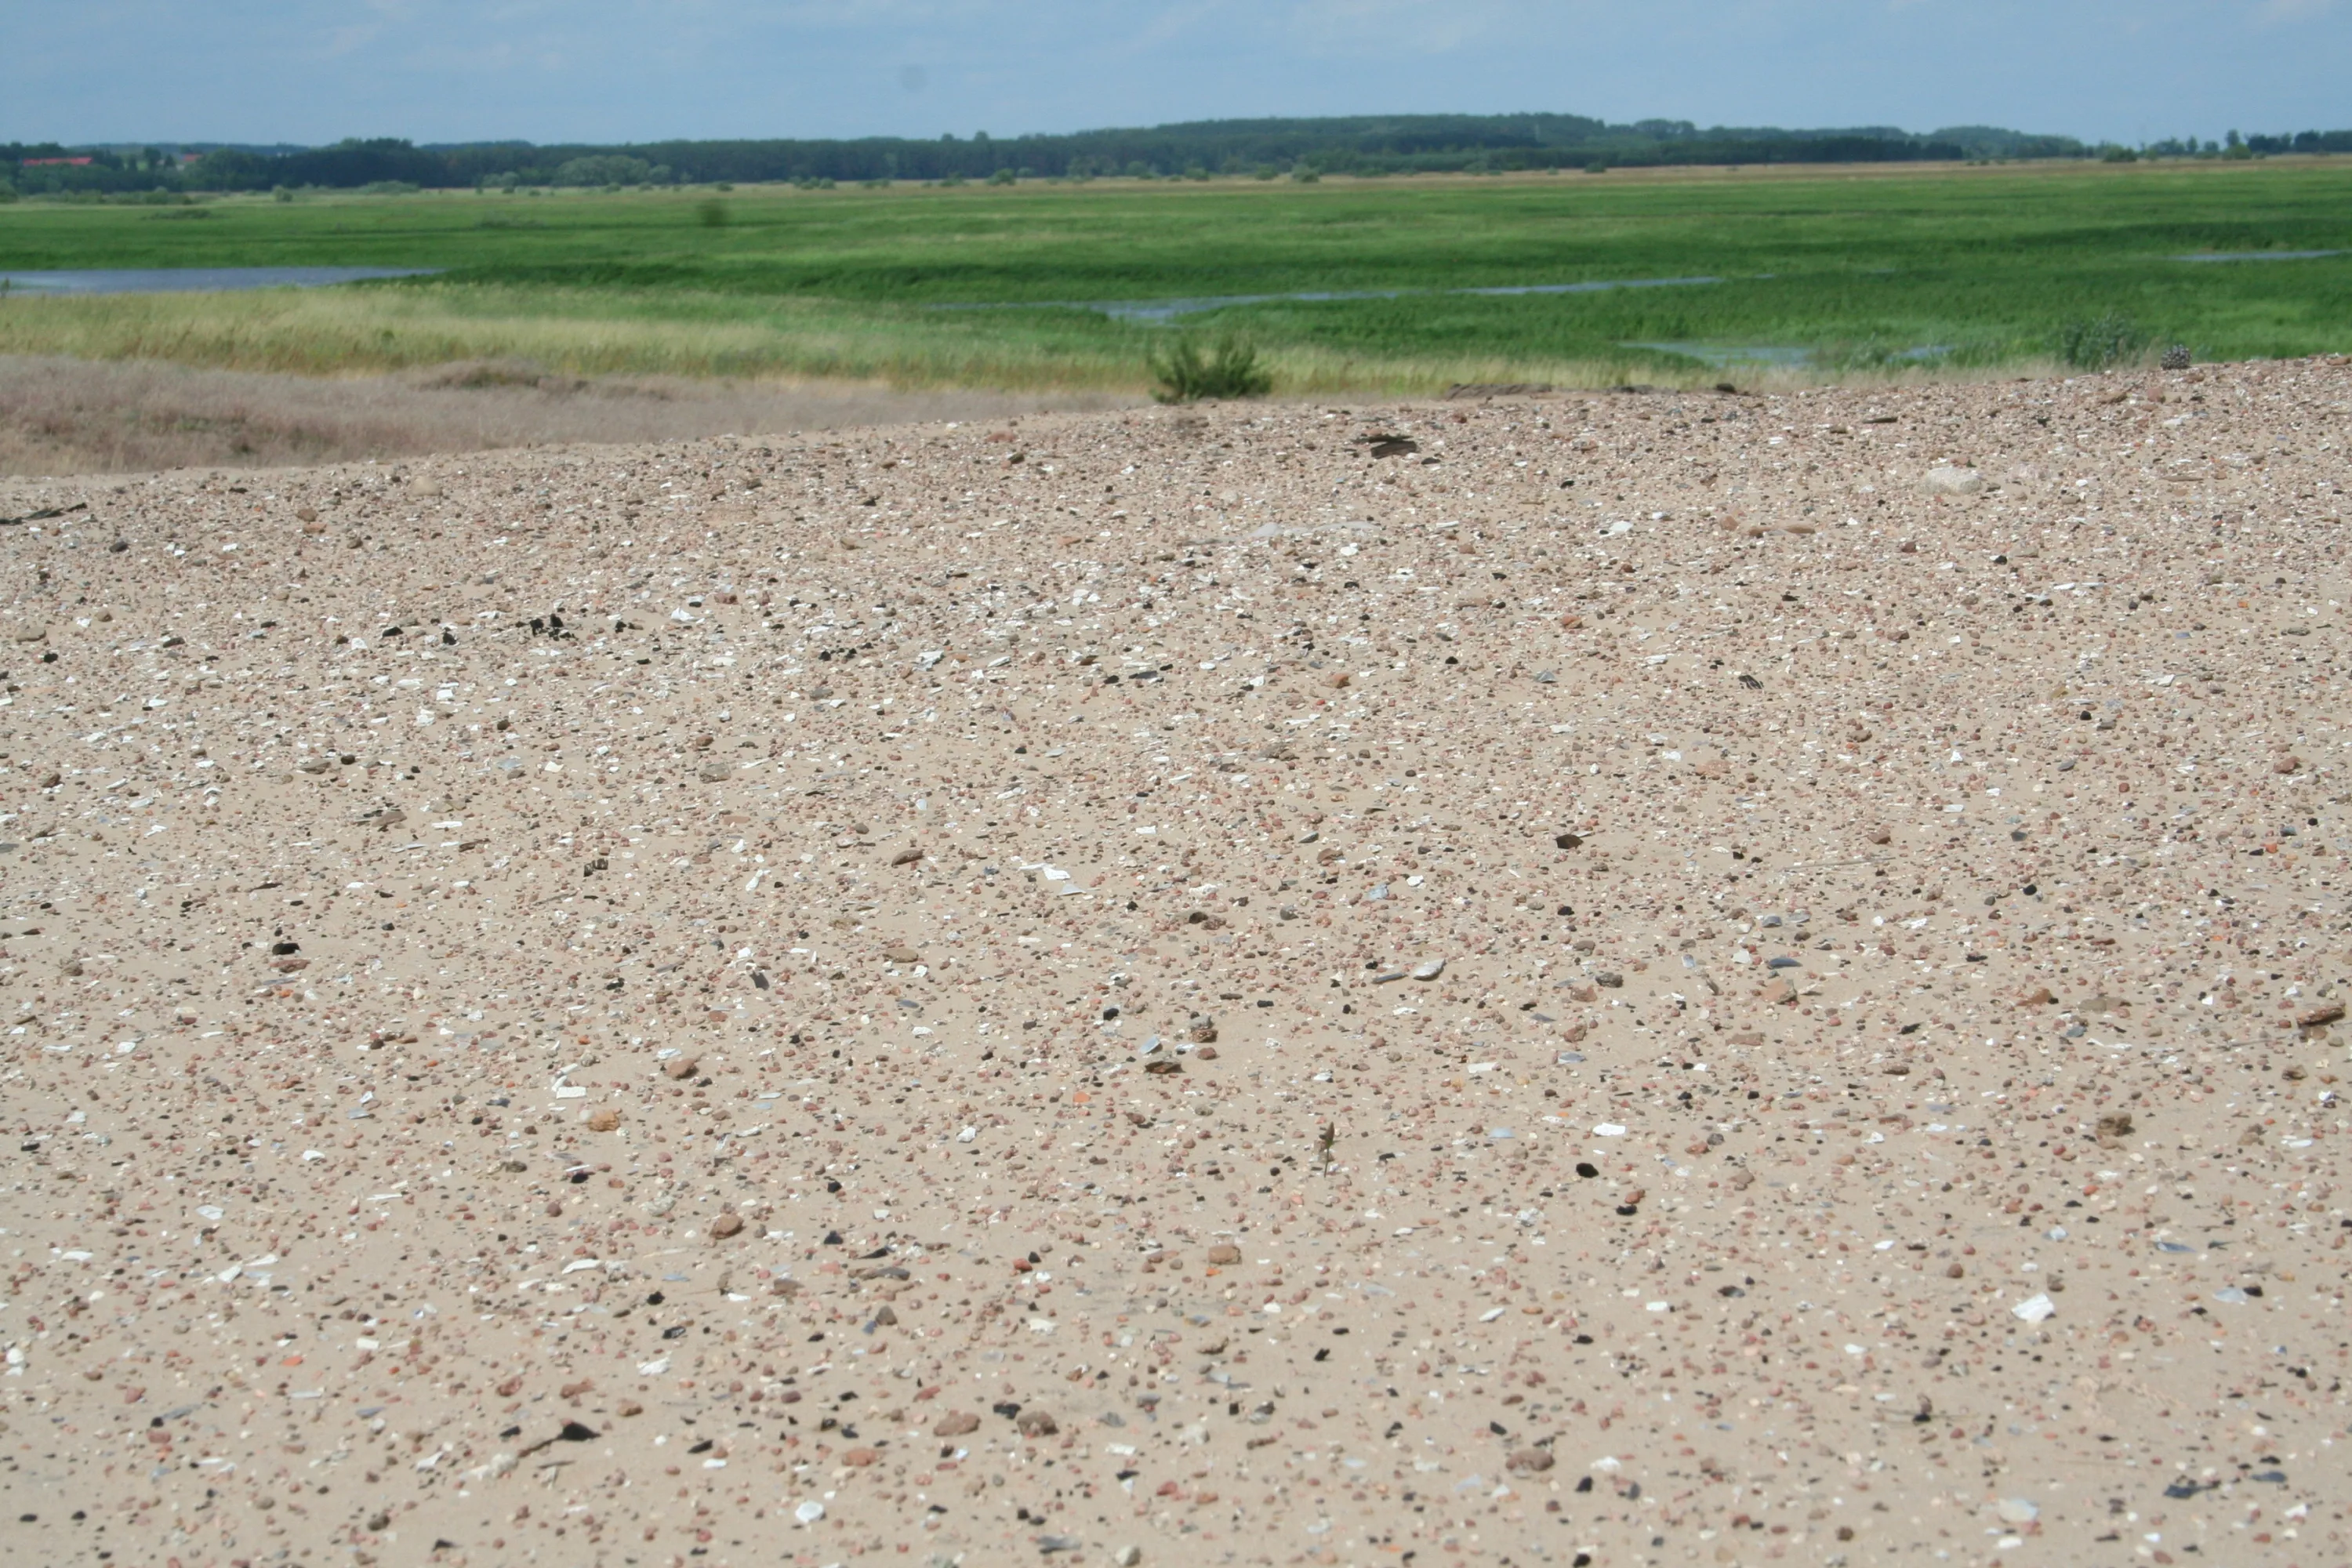
<path fill-rule="evenodd" d="M 2352 0 L 54 0 L 0 141 L 995 136 L 1569 110 L 2352 127 Z"/>

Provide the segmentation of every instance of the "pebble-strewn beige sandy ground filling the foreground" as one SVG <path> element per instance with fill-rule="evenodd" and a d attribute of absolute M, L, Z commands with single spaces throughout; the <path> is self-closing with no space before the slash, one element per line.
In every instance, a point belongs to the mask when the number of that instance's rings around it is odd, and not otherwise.
<path fill-rule="evenodd" d="M 2347 407 L 5 482 L 7 1556 L 2343 1563 Z"/>

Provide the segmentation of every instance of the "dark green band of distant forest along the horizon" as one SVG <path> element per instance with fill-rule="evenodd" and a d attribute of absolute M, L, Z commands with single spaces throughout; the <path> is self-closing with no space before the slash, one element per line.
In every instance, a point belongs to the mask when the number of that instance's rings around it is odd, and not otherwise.
<path fill-rule="evenodd" d="M 1334 120 L 1197 120 L 1150 129 L 969 139 L 654 141 L 414 146 L 397 139 L 329 148 L 216 146 L 68 148 L 0 143 L 0 193 L 153 193 L 273 188 L 496 188 L 757 181 L 1202 179 L 1254 174 L 1423 174 L 1611 169 L 1656 165 L 1839 165 L 2009 158 L 2260 158 L 2352 153 L 2352 132 L 2298 132 L 2145 148 L 2034 136 L 1990 125 L 1915 134 L 1893 127 L 1698 127 L 1689 120 L 1609 125 L 1585 115 L 1359 115 Z"/>

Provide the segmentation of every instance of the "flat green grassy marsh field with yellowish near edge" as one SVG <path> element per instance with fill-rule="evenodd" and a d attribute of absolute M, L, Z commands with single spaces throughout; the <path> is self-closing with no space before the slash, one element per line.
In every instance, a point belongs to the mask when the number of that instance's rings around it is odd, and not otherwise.
<path fill-rule="evenodd" d="M 447 273 L 332 292 L 14 296 L 0 301 L 0 353 L 1141 388 L 1169 327 L 1073 301 L 1376 289 L 1406 294 L 1230 306 L 1185 324 L 1247 334 L 1277 393 L 1759 374 L 1738 355 L 1771 355 L 1778 374 L 2046 367 L 2070 322 L 2098 317 L 2199 357 L 2352 350 L 2352 254 L 2176 259 L 2204 252 L 2352 252 L 2352 160 L 19 202 L 0 207 L 0 275 Z M 1719 282 L 1451 294 L 1698 275 Z M 1686 350 L 1637 348 L 1656 343 Z M 1731 371 L 1715 369 L 1724 350 Z"/>

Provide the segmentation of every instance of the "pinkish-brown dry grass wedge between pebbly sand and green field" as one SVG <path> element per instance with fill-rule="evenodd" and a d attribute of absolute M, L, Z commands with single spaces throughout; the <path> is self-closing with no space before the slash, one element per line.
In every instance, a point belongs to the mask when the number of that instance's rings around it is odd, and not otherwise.
<path fill-rule="evenodd" d="M 557 376 L 466 360 L 402 376 L 280 376 L 0 355 L 0 475 L 282 468 L 543 442 L 971 421 L 1141 402 L 1091 393 L 898 393 L 849 381 Z"/>

